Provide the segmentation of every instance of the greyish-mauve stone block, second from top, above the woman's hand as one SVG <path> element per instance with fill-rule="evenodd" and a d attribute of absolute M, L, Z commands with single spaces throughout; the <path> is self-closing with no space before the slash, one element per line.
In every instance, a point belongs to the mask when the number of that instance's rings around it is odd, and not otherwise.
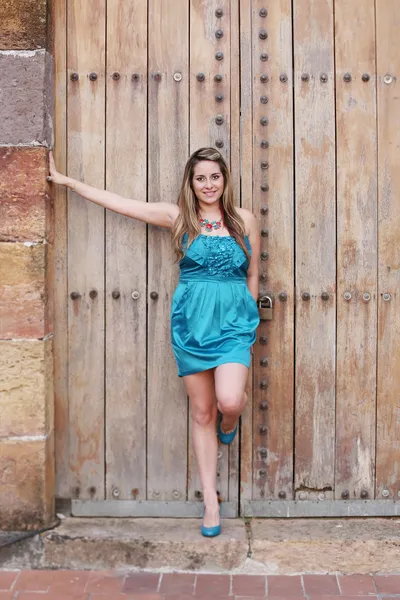
<path fill-rule="evenodd" d="M 52 145 L 52 72 L 45 50 L 0 51 L 0 145 Z"/>

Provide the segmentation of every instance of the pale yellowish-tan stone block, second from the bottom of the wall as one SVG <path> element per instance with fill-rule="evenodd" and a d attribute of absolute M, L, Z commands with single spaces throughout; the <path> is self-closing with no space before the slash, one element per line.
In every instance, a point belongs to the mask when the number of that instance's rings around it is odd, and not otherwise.
<path fill-rule="evenodd" d="M 54 427 L 53 340 L 0 341 L 0 438 Z"/>

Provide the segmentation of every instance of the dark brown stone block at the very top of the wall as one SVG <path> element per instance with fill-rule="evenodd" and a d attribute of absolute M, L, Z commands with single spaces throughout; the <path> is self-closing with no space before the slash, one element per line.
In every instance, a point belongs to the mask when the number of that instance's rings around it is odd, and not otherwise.
<path fill-rule="evenodd" d="M 45 48 L 46 12 L 46 0 L 1 0 L 0 49 Z"/>

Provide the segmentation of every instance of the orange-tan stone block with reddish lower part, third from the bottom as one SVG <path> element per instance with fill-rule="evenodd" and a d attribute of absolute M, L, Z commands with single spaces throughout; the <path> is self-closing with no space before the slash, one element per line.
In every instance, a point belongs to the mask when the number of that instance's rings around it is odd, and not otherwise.
<path fill-rule="evenodd" d="M 53 330 L 45 280 L 48 248 L 0 243 L 0 339 L 43 338 Z"/>

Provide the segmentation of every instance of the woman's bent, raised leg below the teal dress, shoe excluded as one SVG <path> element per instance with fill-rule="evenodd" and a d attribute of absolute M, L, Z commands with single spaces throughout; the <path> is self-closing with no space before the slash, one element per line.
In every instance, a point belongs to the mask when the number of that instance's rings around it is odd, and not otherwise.
<path fill-rule="evenodd" d="M 215 369 L 215 393 L 222 413 L 221 429 L 233 431 L 247 402 L 246 388 L 249 370 L 245 365 L 228 363 Z"/>

